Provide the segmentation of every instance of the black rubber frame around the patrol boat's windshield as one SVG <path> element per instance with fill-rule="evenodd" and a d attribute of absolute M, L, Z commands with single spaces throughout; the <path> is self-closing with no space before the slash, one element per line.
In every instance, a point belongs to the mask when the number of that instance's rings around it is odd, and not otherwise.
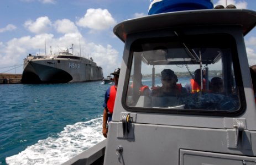
<path fill-rule="evenodd" d="M 134 56 L 134 47 L 138 47 L 138 43 L 142 45 L 142 43 L 155 43 L 155 41 L 163 41 L 163 38 L 175 38 L 175 40 L 182 40 L 182 38 L 177 36 L 163 36 L 163 37 L 150 37 L 150 38 L 139 38 L 135 39 L 132 43 L 129 45 L 129 57 L 128 57 L 128 63 L 127 63 L 127 71 L 126 71 L 126 79 L 124 80 L 124 87 L 122 92 L 122 106 L 124 109 L 130 112 L 144 112 L 144 113 L 165 113 L 165 114 L 191 114 L 191 115 L 200 115 L 200 116 L 224 116 L 224 117 L 233 117 L 233 116 L 239 116 L 242 113 L 245 112 L 246 109 L 246 102 L 243 98 L 245 98 L 244 94 L 244 86 L 242 81 L 242 74 L 241 74 L 241 67 L 238 60 L 238 51 L 237 51 L 237 45 L 236 45 L 236 39 L 226 33 L 219 33 L 219 34 L 200 34 L 200 35 L 186 35 L 183 36 L 184 38 L 195 38 L 200 37 L 210 37 L 210 36 L 224 36 L 226 40 L 230 40 L 232 42 L 228 42 L 229 48 L 231 49 L 232 53 L 232 65 L 234 70 L 234 77 L 236 80 L 236 87 L 237 87 L 237 96 L 239 101 L 239 108 L 237 111 L 212 111 L 212 110 L 206 110 L 206 109 L 168 109 L 168 108 L 153 108 L 153 107 L 132 107 L 128 106 L 126 103 L 127 100 L 127 92 L 129 87 L 129 79 L 130 79 L 130 72 L 132 70 L 132 63 L 133 63 L 133 56 Z M 174 39 L 171 41 L 175 41 Z M 211 42 L 208 42 L 209 44 Z M 225 45 L 228 46 L 228 45 Z"/>

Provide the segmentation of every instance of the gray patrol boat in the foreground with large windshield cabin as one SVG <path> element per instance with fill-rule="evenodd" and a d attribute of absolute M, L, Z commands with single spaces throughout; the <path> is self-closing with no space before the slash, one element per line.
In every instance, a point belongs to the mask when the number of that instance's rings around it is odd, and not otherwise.
<path fill-rule="evenodd" d="M 255 11 L 227 8 L 116 25 L 114 34 L 125 45 L 108 137 L 64 164 L 255 164 L 256 89 L 244 44 L 255 25 Z M 185 70 L 193 79 L 199 68 L 204 91 L 140 96 L 140 74 L 151 74 L 149 86 L 156 87 L 161 81 L 155 75 L 171 69 L 184 86 L 190 81 L 182 83 L 178 73 Z M 212 90 L 213 77 L 222 79 L 219 92 Z"/>

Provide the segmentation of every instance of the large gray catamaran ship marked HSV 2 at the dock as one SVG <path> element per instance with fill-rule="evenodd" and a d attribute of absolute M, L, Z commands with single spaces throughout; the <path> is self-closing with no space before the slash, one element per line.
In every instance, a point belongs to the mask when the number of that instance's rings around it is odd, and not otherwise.
<path fill-rule="evenodd" d="M 102 68 L 92 58 L 74 56 L 62 52 L 48 56 L 32 56 L 24 59 L 22 83 L 68 83 L 102 80 Z"/>

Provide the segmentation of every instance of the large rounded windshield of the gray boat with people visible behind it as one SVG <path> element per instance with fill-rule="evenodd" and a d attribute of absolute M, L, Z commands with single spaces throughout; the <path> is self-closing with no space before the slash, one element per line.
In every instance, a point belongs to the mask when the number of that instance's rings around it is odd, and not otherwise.
<path fill-rule="evenodd" d="M 147 38 L 136 40 L 130 48 L 129 81 L 123 95 L 128 109 L 200 114 L 242 111 L 239 98 L 244 91 L 232 36 Z"/>

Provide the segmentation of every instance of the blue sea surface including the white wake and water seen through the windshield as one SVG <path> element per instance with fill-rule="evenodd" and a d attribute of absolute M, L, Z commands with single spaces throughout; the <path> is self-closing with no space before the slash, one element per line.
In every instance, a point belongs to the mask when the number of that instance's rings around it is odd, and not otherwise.
<path fill-rule="evenodd" d="M 160 78 L 155 84 L 161 86 Z M 104 140 L 102 105 L 111 85 L 0 85 L 0 165 L 61 164 Z"/>

